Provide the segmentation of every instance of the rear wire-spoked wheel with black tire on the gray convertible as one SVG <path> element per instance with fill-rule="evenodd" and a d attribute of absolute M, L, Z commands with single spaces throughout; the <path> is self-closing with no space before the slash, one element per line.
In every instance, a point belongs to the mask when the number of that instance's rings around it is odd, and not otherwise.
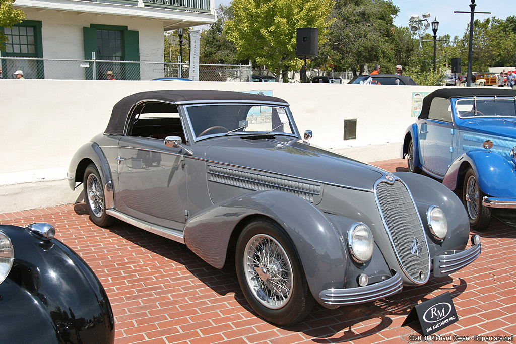
<path fill-rule="evenodd" d="M 100 227 L 112 224 L 114 219 L 106 214 L 106 198 L 102 188 L 102 179 L 92 163 L 84 171 L 83 185 L 84 201 L 93 223 Z"/>

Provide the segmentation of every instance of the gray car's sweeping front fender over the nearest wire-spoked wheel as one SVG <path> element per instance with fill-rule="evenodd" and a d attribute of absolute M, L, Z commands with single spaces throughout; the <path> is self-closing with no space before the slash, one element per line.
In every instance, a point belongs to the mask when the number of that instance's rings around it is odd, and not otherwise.
<path fill-rule="evenodd" d="M 220 269 L 233 230 L 253 215 L 275 220 L 292 239 L 316 300 L 321 290 L 343 287 L 347 255 L 341 236 L 322 211 L 286 192 L 250 192 L 213 205 L 186 223 L 185 244 Z"/>

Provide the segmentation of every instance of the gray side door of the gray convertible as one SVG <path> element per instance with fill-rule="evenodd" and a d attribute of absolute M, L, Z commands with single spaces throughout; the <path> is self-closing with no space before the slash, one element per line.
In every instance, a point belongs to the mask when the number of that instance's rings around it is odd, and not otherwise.
<path fill-rule="evenodd" d="M 120 139 L 117 208 L 137 219 L 182 230 L 188 210 L 186 161 L 183 150 L 165 146 L 164 138 L 184 135 L 151 134 L 163 132 L 164 127 L 142 125 L 139 130 L 145 137 Z"/>

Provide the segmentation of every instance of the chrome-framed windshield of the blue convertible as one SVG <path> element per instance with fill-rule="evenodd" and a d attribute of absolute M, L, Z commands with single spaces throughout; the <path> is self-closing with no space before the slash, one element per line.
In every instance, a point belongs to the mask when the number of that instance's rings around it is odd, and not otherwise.
<path fill-rule="evenodd" d="M 516 117 L 516 97 L 477 97 L 455 102 L 460 118 Z"/>

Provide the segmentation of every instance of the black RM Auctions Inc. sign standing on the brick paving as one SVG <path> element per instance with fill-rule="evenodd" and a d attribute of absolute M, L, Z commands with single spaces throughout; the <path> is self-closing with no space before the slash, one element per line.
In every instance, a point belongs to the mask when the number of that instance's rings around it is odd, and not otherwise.
<path fill-rule="evenodd" d="M 409 319 L 414 318 L 414 309 L 425 336 L 436 333 L 459 320 L 449 292 L 415 305 L 405 319 L 404 324 L 410 322 Z"/>

